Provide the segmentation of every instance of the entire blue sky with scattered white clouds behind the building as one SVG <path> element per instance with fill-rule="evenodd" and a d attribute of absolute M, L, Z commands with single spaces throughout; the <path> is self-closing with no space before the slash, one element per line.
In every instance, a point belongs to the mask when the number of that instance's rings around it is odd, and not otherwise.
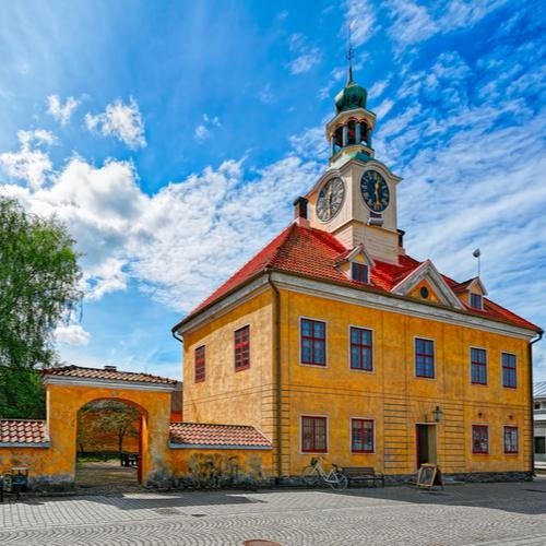
<path fill-rule="evenodd" d="M 546 325 L 543 2 L 19 1 L 0 20 L 0 191 L 83 254 L 64 360 L 180 377 L 171 325 L 325 166 L 349 21 L 408 253 L 462 281 L 479 247 L 491 299 Z"/>

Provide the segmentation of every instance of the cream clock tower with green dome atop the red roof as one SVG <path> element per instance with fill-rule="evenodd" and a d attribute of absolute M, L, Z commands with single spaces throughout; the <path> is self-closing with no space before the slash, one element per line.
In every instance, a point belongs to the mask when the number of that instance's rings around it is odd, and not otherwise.
<path fill-rule="evenodd" d="M 327 123 L 329 168 L 306 195 L 310 225 L 335 235 L 347 248 L 364 246 L 369 256 L 399 263 L 396 185 L 401 178 L 375 158 L 376 115 L 367 92 L 353 80 L 335 97 L 335 116 Z"/>

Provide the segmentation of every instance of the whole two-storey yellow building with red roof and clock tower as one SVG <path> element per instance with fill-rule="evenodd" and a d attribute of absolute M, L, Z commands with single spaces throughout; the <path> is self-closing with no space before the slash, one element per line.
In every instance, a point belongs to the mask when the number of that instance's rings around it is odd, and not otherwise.
<path fill-rule="evenodd" d="M 259 428 L 278 477 L 317 454 L 393 477 L 424 462 L 524 477 L 542 331 L 479 277 L 458 283 L 406 254 L 401 178 L 375 158 L 366 98 L 349 69 L 329 167 L 294 223 L 174 327 L 185 420 Z"/>

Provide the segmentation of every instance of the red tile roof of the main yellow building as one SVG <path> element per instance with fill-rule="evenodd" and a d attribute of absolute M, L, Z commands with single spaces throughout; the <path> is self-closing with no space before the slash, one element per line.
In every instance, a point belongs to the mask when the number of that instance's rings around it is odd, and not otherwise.
<path fill-rule="evenodd" d="M 399 264 L 375 260 L 375 266 L 371 268 L 370 273 L 370 284 L 363 284 L 348 278 L 336 268 L 340 257 L 347 256 L 347 250 L 351 249 L 345 248 L 336 237 L 322 229 L 292 224 L 214 290 L 181 322 L 176 324 L 173 330 L 178 329 L 206 307 L 266 271 L 280 271 L 318 281 L 343 284 L 361 290 L 390 294 L 393 286 L 423 263 L 405 254 L 400 256 Z M 443 278 L 450 287 L 458 286 L 458 283 L 452 278 L 447 276 Z M 535 324 L 486 298 L 484 298 L 483 311 L 468 306 L 466 306 L 466 311 L 471 314 L 508 322 L 518 327 L 535 331 L 541 330 Z"/>

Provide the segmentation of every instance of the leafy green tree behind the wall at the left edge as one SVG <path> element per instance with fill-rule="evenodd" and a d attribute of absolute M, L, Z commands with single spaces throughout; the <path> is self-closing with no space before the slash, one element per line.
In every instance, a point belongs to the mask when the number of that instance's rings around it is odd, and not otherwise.
<path fill-rule="evenodd" d="M 37 373 L 57 364 L 55 328 L 82 294 L 74 240 L 56 218 L 0 195 L 0 416 L 43 417 Z"/>

